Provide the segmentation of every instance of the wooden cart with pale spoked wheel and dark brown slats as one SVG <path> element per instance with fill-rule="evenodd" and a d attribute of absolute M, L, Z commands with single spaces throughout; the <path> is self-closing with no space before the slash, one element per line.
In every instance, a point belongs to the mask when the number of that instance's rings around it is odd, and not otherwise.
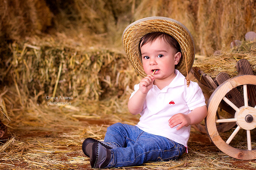
<path fill-rule="evenodd" d="M 256 128 L 256 76 L 245 59 L 236 63 L 236 69 L 239 75 L 233 78 L 229 78 L 227 73 L 220 73 L 212 79 L 197 67 L 192 69 L 192 73 L 208 100 L 204 123 L 206 133 L 213 144 L 233 158 L 251 160 L 256 159 L 256 148 L 252 148 L 251 141 L 251 133 L 254 133 L 253 129 Z M 228 115 L 220 115 L 222 109 Z M 203 131 L 201 125 L 197 128 Z M 232 128 L 235 130 L 229 137 L 220 135 Z M 242 132 L 246 133 L 247 148 L 230 145 L 240 129 L 244 129 Z"/>

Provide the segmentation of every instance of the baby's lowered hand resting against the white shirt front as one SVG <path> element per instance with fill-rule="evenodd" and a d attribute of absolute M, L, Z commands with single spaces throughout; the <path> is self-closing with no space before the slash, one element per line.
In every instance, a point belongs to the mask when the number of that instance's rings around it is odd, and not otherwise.
<path fill-rule="evenodd" d="M 182 114 L 182 113 L 178 113 L 176 115 L 173 115 L 171 117 L 171 119 L 169 119 L 168 122 L 169 122 L 169 126 L 171 128 L 180 124 L 180 126 L 178 126 L 177 130 L 179 130 L 183 126 L 188 127 L 191 124 L 190 117 L 188 115 L 185 115 L 185 114 Z"/>

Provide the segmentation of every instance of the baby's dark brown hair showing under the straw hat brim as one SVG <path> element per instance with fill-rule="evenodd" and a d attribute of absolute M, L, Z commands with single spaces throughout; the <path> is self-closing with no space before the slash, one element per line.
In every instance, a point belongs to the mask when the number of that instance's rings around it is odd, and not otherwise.
<path fill-rule="evenodd" d="M 157 38 L 163 38 L 167 44 L 169 44 L 174 50 L 176 50 L 175 53 L 177 53 L 177 52 L 181 53 L 180 44 L 178 43 L 178 41 L 175 38 L 173 38 L 172 35 L 169 35 L 167 33 L 162 33 L 162 32 L 152 32 L 152 33 L 148 33 L 148 34 L 144 35 L 140 39 L 139 51 L 140 51 L 140 46 L 142 47 L 143 45 L 145 45 L 148 42 L 152 43 Z M 140 51 L 140 55 L 141 55 L 141 51 Z"/>

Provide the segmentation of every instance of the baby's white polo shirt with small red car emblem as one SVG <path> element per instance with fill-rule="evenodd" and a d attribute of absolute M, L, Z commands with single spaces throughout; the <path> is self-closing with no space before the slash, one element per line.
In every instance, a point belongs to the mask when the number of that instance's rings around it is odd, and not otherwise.
<path fill-rule="evenodd" d="M 174 72 L 176 77 L 168 86 L 160 90 L 153 85 L 148 91 L 140 121 L 136 126 L 145 132 L 167 137 L 187 147 L 191 126 L 176 130 L 179 125 L 171 128 L 168 120 L 177 113 L 189 114 L 196 107 L 206 104 L 199 85 L 190 81 L 187 87 L 187 81 L 180 71 L 175 69 Z M 131 97 L 138 90 L 139 84 L 134 85 Z"/>

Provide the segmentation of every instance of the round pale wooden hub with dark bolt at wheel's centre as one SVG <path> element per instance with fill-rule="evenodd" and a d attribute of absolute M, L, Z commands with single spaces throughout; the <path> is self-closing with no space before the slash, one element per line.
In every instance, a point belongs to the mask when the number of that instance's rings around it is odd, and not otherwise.
<path fill-rule="evenodd" d="M 236 112 L 236 124 L 245 130 L 256 128 L 256 109 L 253 107 L 240 107 L 240 111 Z"/>

